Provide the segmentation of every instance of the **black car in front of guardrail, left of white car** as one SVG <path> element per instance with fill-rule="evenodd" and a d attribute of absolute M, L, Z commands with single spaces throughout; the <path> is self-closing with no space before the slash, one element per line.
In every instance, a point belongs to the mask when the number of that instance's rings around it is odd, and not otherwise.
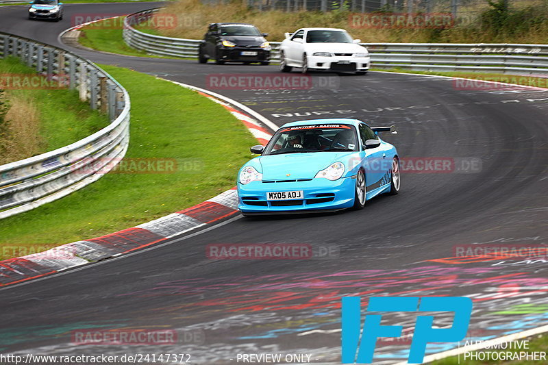
<path fill-rule="evenodd" d="M 254 25 L 244 23 L 212 23 L 199 46 L 198 61 L 209 59 L 217 64 L 244 62 L 270 63 L 271 47 Z"/>

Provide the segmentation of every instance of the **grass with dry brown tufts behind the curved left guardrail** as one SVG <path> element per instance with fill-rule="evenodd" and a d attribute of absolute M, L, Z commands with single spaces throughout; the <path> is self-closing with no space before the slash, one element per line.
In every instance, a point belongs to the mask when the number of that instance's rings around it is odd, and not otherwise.
<path fill-rule="evenodd" d="M 108 117 L 90 110 L 75 90 L 24 88 L 30 80 L 26 75 L 36 76 L 34 69 L 17 58 L 0 60 L 3 84 L 17 87 L 5 90 L 12 106 L 5 116 L 5 133 L 0 136 L 0 164 L 58 149 L 108 125 Z"/>

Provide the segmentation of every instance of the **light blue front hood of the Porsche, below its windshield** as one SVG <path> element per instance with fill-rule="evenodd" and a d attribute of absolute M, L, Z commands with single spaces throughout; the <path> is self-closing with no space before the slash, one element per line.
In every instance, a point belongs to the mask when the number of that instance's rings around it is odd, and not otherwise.
<path fill-rule="evenodd" d="M 347 166 L 351 155 L 353 152 L 286 153 L 261 156 L 258 160 L 263 180 L 312 179 L 333 162 Z"/>

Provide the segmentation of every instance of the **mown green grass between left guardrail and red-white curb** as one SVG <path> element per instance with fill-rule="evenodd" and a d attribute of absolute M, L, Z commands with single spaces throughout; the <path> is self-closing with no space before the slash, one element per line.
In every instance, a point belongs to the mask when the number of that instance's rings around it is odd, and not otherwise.
<path fill-rule="evenodd" d="M 171 173 L 108 173 L 73 194 L 0 221 L 3 259 L 36 247 L 133 227 L 209 199 L 235 184 L 256 144 L 221 105 L 168 81 L 101 66 L 132 98 L 127 159 L 176 159 Z M 8 247 L 8 249 L 5 249 Z M 17 252 L 16 252 L 17 251 Z"/>

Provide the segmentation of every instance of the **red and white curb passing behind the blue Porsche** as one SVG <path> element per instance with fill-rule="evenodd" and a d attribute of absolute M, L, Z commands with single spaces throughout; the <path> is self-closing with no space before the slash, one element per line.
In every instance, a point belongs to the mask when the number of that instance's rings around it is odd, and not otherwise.
<path fill-rule="evenodd" d="M 175 84 L 179 83 L 175 82 Z M 237 101 L 232 101 L 232 99 L 226 97 L 223 97 L 221 101 L 208 90 L 197 90 L 197 88 L 184 84 L 179 85 L 196 90 L 201 95 L 223 105 L 232 115 L 244 123 L 261 144 L 266 144 L 271 138 L 270 132 L 262 127 L 255 118 L 234 108 L 236 106 L 242 109 L 241 106 L 243 105 Z M 251 112 L 258 114 L 253 110 Z M 260 116 L 260 114 L 258 115 Z M 274 129 L 277 129 L 266 118 L 260 116 L 260 119 L 262 119 L 262 123 L 267 121 Z M 136 227 L 97 238 L 90 238 L 89 240 L 63 244 L 32 255 L 3 260 L 0 261 L 0 288 L 136 251 L 204 225 L 216 223 L 223 218 L 236 214 L 237 210 L 238 192 L 236 192 L 236 188 L 232 188 L 203 203 Z"/>

